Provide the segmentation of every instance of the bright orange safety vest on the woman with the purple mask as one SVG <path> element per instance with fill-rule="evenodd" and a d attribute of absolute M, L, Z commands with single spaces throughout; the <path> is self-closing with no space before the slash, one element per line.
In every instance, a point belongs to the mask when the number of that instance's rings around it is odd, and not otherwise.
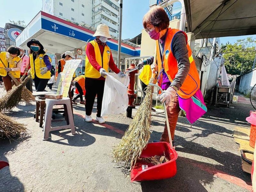
<path fill-rule="evenodd" d="M 156 41 L 156 56 L 157 56 L 157 65 L 158 65 L 158 72 L 162 69 L 162 62 L 164 71 L 168 76 L 169 81 L 173 81 L 176 74 L 178 73 L 178 63 L 176 58 L 174 57 L 172 53 L 172 39 L 176 33 L 183 33 L 186 37 L 186 41 L 188 42 L 188 36 L 184 31 L 181 31 L 179 29 L 172 29 L 168 28 L 166 39 L 164 42 L 164 51 L 163 51 L 163 59 L 161 60 L 160 56 L 160 47 L 159 47 L 159 41 Z M 179 91 L 177 94 L 183 98 L 188 99 L 191 96 L 193 96 L 196 91 L 200 88 L 200 79 L 199 75 L 196 69 L 196 64 L 192 56 L 192 51 L 187 43 L 188 48 L 188 58 L 190 62 L 190 70 L 188 72 L 188 75 L 181 85 Z"/>

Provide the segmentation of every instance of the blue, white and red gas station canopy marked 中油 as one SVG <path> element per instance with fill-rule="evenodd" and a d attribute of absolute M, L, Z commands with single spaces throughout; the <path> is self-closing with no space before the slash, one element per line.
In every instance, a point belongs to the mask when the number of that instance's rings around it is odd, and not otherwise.
<path fill-rule="evenodd" d="M 91 28 L 75 25 L 41 11 L 16 38 L 16 45 L 28 49 L 27 42 L 36 39 L 42 43 L 44 49 L 53 54 L 76 48 L 84 50 L 86 42 L 95 38 L 92 36 L 94 33 Z M 116 58 L 118 41 L 110 39 L 108 46 Z M 140 47 L 131 42 L 122 42 L 121 55 L 124 58 L 140 56 Z"/>

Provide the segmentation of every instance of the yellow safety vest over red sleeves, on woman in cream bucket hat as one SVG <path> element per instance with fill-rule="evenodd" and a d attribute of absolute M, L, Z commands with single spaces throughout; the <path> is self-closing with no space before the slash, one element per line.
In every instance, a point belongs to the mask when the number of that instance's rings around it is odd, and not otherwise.
<path fill-rule="evenodd" d="M 90 43 L 94 47 L 96 61 L 99 63 L 99 65 L 102 68 L 104 68 L 108 72 L 108 63 L 109 63 L 110 53 L 111 53 L 110 48 L 108 46 L 105 46 L 103 51 L 103 57 L 101 57 L 98 43 L 94 40 L 90 41 Z M 85 47 L 85 50 L 86 50 L 86 47 Z M 100 78 L 100 72 L 92 66 L 87 56 L 85 58 L 85 77 L 95 78 L 95 79 Z"/>

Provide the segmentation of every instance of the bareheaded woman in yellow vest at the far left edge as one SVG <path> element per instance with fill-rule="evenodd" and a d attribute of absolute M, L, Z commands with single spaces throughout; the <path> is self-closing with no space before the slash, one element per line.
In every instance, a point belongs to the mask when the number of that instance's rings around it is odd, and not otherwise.
<path fill-rule="evenodd" d="M 3 78 L 6 91 L 12 89 L 12 78 L 9 73 L 20 81 L 21 58 L 20 49 L 14 45 L 7 49 L 7 52 L 0 52 L 0 75 Z"/>

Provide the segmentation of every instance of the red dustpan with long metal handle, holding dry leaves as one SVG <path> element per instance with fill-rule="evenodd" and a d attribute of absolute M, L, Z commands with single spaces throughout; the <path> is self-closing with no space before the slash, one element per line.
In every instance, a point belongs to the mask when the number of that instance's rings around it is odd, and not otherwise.
<path fill-rule="evenodd" d="M 155 86 L 161 90 L 163 90 L 155 85 L 149 83 L 151 86 Z M 172 146 L 172 137 L 170 133 L 170 126 L 167 117 L 166 105 L 164 103 L 164 112 L 165 119 L 168 128 L 168 135 L 170 139 L 170 143 L 167 142 L 154 142 L 148 143 L 145 149 L 142 150 L 140 158 L 152 157 L 152 156 L 162 156 L 169 160 L 165 163 L 159 165 L 153 165 L 151 163 L 145 162 L 144 160 L 137 160 L 135 165 L 131 169 L 131 181 L 144 181 L 144 180 L 160 180 L 171 178 L 177 173 L 176 159 L 178 158 L 177 152 L 173 149 Z"/>

